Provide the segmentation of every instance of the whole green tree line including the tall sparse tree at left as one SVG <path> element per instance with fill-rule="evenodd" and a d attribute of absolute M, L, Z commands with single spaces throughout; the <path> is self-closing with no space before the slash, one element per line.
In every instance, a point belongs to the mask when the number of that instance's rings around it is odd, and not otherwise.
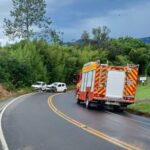
<path fill-rule="evenodd" d="M 30 86 L 37 80 L 73 83 L 84 63 L 139 64 L 150 75 L 150 45 L 132 37 L 111 39 L 106 26 L 83 31 L 80 40 L 63 43 L 63 32 L 50 28 L 45 0 L 12 0 L 5 35 L 20 42 L 0 48 L 0 83 L 8 89 Z M 36 27 L 36 28 L 35 28 Z M 92 37 L 90 37 L 92 35 Z"/>

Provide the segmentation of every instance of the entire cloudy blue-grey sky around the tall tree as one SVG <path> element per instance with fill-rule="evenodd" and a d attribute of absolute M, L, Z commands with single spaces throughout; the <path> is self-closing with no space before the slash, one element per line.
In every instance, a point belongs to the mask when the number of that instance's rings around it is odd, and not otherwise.
<path fill-rule="evenodd" d="M 149 0 L 46 0 L 46 16 L 52 28 L 64 32 L 65 42 L 81 37 L 84 30 L 106 25 L 110 37 L 150 36 Z M 3 19 L 9 18 L 12 0 L 0 0 L 0 43 L 10 42 L 3 33 Z M 14 41 L 12 41 L 14 42 Z"/>

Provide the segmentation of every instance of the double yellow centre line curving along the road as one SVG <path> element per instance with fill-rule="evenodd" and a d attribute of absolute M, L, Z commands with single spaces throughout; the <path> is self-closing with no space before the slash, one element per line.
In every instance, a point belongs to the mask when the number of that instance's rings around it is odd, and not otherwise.
<path fill-rule="evenodd" d="M 64 120 L 70 122 L 71 124 L 73 124 L 73 125 L 75 125 L 75 126 L 81 128 L 81 129 L 83 129 L 84 131 L 86 131 L 86 132 L 88 132 L 88 133 L 90 133 L 90 134 L 92 134 L 92 135 L 94 135 L 94 136 L 97 136 L 97 137 L 99 137 L 99 138 L 101 138 L 101 139 L 104 139 L 104 140 L 106 140 L 106 141 L 108 141 L 108 142 L 110 142 L 110 143 L 113 143 L 113 144 L 115 144 L 115 145 L 117 145 L 117 146 L 119 146 L 119 147 L 122 147 L 122 148 L 124 148 L 124 149 L 127 149 L 127 150 L 141 150 L 140 148 L 137 148 L 137 147 L 135 147 L 135 146 L 133 146 L 133 145 L 130 145 L 130 144 L 127 144 L 127 143 L 125 143 L 125 142 L 123 142 L 123 141 L 120 141 L 120 140 L 118 140 L 118 139 L 115 139 L 115 138 L 113 138 L 113 137 L 111 137 L 111 136 L 109 136 L 109 135 L 107 135 L 107 134 L 105 134 L 105 133 L 103 133 L 103 132 L 101 132 L 101 131 L 98 131 L 98 130 L 96 130 L 96 129 L 94 129 L 94 128 L 91 128 L 91 127 L 89 127 L 89 126 L 87 126 L 87 125 L 85 125 L 85 124 L 83 124 L 83 123 L 81 123 L 81 122 L 78 122 L 77 120 L 74 120 L 73 118 L 71 118 L 71 117 L 65 115 L 63 112 L 61 112 L 60 110 L 58 110 L 58 109 L 54 106 L 54 104 L 53 104 L 53 102 L 52 102 L 52 98 L 53 98 L 54 96 L 56 96 L 56 95 L 60 95 L 60 94 L 55 94 L 55 95 L 50 96 L 50 97 L 48 98 L 48 105 L 49 105 L 49 107 L 52 109 L 52 111 L 53 111 L 54 113 L 56 113 L 58 116 L 60 116 L 60 117 L 63 118 Z"/>

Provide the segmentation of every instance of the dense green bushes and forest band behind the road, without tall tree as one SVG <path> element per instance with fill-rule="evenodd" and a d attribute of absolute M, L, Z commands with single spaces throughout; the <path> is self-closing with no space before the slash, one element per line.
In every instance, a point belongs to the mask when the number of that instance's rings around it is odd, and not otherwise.
<path fill-rule="evenodd" d="M 100 60 L 110 65 L 139 64 L 140 75 L 150 75 L 150 45 L 126 37 L 105 43 L 84 41 L 70 45 L 45 40 L 22 40 L 0 48 L 0 83 L 7 89 L 47 83 L 73 82 L 84 63 Z"/>

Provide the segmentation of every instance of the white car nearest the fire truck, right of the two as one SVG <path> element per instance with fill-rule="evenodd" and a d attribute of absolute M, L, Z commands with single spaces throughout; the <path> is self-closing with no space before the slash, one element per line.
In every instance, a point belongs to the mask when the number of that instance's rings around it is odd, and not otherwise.
<path fill-rule="evenodd" d="M 66 83 L 54 82 L 48 85 L 47 89 L 49 89 L 49 91 L 52 91 L 52 92 L 66 92 L 67 86 L 66 86 Z"/>

